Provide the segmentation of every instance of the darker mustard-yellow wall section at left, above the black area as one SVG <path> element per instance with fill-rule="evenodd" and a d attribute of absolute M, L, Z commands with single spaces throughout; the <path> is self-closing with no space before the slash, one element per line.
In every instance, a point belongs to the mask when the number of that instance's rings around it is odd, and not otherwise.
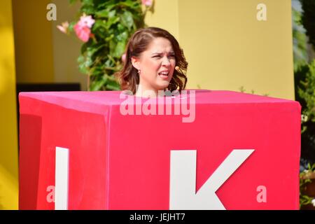
<path fill-rule="evenodd" d="M 52 22 L 46 19 L 50 0 L 13 0 L 18 83 L 53 83 Z"/>

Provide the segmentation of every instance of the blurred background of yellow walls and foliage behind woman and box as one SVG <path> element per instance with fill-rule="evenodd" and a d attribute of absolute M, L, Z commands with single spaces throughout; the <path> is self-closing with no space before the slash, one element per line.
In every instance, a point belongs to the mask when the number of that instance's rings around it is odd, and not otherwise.
<path fill-rule="evenodd" d="M 190 89 L 300 102 L 300 203 L 313 209 L 314 26 L 315 0 L 1 0 L 0 209 L 18 209 L 18 92 L 119 90 L 113 73 L 141 27 L 177 38 Z"/>

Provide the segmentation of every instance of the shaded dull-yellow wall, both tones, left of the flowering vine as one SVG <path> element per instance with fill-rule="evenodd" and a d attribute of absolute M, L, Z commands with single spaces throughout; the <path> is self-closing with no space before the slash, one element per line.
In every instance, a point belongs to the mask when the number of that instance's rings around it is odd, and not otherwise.
<path fill-rule="evenodd" d="M 57 8 L 55 21 L 46 19 L 48 3 Z M 13 0 L 18 83 L 80 83 L 87 89 L 77 62 L 83 42 L 56 27 L 73 21 L 79 8 L 79 1 L 70 6 L 68 0 Z"/>

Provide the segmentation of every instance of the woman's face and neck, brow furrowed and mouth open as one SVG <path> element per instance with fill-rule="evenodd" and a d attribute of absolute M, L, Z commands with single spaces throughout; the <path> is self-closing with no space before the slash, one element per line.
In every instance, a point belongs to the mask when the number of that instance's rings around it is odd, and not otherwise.
<path fill-rule="evenodd" d="M 172 79 L 176 64 L 172 43 L 167 38 L 154 38 L 139 58 L 132 58 L 138 70 L 139 84 L 144 90 L 165 90 Z"/>

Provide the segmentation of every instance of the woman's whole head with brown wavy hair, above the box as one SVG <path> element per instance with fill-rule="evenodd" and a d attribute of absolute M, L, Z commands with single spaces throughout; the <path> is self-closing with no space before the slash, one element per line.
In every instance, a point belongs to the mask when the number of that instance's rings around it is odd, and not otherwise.
<path fill-rule="evenodd" d="M 179 69 L 175 69 L 178 66 Z M 117 73 L 123 90 L 183 90 L 188 63 L 176 38 L 168 31 L 148 27 L 136 31 L 127 43 L 123 70 Z"/>

